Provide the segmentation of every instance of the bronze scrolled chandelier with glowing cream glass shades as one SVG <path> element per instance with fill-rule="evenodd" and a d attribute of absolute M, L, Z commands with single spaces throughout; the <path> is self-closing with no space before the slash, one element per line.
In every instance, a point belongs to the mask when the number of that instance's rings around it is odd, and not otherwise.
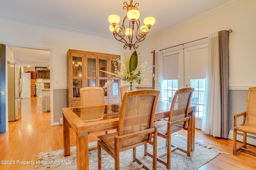
<path fill-rule="evenodd" d="M 129 47 L 130 50 L 132 47 L 134 49 L 138 48 L 137 43 L 143 41 L 146 38 L 146 35 L 148 35 L 151 26 L 155 23 L 154 17 L 146 17 L 143 20 L 145 25 L 140 27 L 140 12 L 138 11 L 138 6 L 140 4 L 136 3 L 133 5 L 132 2 L 133 0 L 130 0 L 130 5 L 127 2 L 124 2 L 123 9 L 126 10 L 126 16 L 124 16 L 122 26 L 117 25 L 120 21 L 120 17 L 118 15 L 108 16 L 108 21 L 111 23 L 109 29 L 113 33 L 114 38 L 117 41 L 124 43 L 124 49 Z M 126 18 L 129 19 L 129 24 L 127 23 L 129 26 L 128 28 L 125 26 Z M 135 34 L 134 31 L 136 31 Z M 133 39 L 135 39 L 134 43 Z"/>

